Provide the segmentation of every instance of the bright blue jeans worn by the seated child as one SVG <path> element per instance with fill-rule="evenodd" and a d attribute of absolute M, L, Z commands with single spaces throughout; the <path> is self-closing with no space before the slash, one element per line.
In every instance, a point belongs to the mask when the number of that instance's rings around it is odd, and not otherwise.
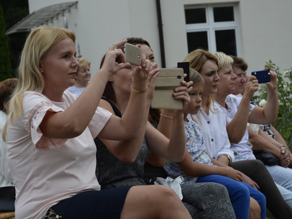
<path fill-rule="evenodd" d="M 266 198 L 250 185 L 221 175 L 206 175 L 198 177 L 196 183 L 221 183 L 228 190 L 230 201 L 237 219 L 248 219 L 250 197 L 260 205 L 260 218 L 266 218 Z"/>

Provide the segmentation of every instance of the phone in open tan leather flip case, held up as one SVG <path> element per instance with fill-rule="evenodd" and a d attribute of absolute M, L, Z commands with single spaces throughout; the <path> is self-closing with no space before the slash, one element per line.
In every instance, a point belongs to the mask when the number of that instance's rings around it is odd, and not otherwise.
<path fill-rule="evenodd" d="M 183 81 L 182 68 L 161 68 L 155 79 L 154 98 L 152 108 L 158 109 L 183 109 L 183 100 L 173 97 L 174 89 L 181 87 Z"/>

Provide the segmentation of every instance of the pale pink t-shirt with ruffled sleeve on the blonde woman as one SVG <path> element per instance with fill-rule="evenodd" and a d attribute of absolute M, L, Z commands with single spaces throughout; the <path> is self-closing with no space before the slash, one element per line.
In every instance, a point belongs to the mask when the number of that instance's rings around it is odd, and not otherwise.
<path fill-rule="evenodd" d="M 61 200 L 100 190 L 93 138 L 112 113 L 98 107 L 86 130 L 72 139 L 48 138 L 39 128 L 47 111 L 65 111 L 77 97 L 65 91 L 63 102 L 53 102 L 41 93 L 27 91 L 23 95 L 23 115 L 15 119 L 15 126 L 8 117 L 8 164 L 16 189 L 16 218 L 42 218 Z"/>

